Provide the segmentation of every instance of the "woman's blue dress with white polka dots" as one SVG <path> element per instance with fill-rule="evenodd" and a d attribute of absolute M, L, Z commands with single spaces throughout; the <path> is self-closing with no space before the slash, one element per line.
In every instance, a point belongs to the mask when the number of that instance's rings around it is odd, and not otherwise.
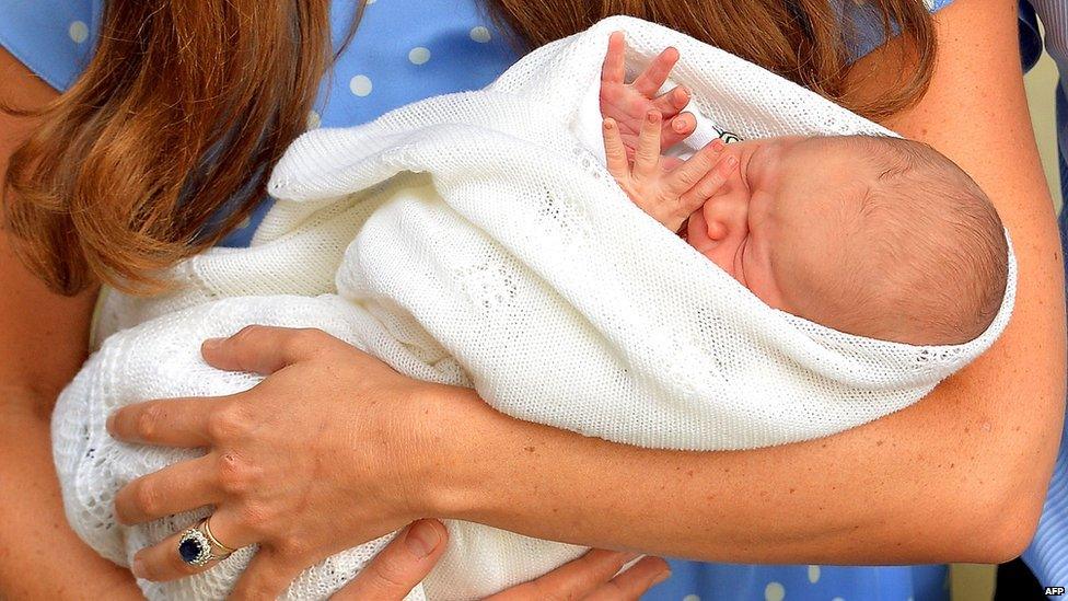
<path fill-rule="evenodd" d="M 934 8 L 949 0 L 934 2 Z M 340 41 L 353 1 L 332 15 Z M 65 90 L 92 53 L 101 0 L 0 0 L 0 45 L 57 90 Z M 881 39 L 859 42 L 862 55 Z M 475 0 L 371 0 L 352 44 L 326 78 L 309 127 L 357 125 L 436 94 L 492 81 L 516 56 Z M 247 245 L 269 200 L 223 245 Z M 700 601 L 840 599 L 934 601 L 949 598 L 944 566 L 748 566 L 672 560 L 673 576 L 645 599 Z"/>

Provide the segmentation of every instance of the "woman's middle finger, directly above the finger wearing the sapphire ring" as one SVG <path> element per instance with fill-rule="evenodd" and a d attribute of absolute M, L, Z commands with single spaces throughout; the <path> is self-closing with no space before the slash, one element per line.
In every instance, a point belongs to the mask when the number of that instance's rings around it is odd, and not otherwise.
<path fill-rule="evenodd" d="M 219 500 L 214 458 L 182 461 L 141 476 L 115 495 L 115 516 L 125 524 L 143 523 Z"/>

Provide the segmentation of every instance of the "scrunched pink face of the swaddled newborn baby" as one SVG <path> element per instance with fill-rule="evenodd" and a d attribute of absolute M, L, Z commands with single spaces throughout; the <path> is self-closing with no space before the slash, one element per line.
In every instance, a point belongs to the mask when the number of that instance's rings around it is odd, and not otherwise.
<path fill-rule="evenodd" d="M 690 216 L 687 241 L 768 305 L 823 322 L 834 308 L 820 291 L 840 277 L 843 232 L 858 211 L 844 199 L 863 197 L 869 174 L 813 138 L 748 140 L 723 152 L 735 153 L 739 169 Z"/>

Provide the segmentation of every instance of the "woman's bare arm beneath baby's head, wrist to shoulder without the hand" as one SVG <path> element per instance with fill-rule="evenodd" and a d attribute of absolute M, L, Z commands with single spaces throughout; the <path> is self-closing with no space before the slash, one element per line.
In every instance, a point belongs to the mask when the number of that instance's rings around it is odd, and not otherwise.
<path fill-rule="evenodd" d="M 442 418 L 478 441 L 479 452 L 442 439 L 443 456 L 456 458 L 451 464 L 464 477 L 441 483 L 462 486 L 436 515 L 712 560 L 1018 555 L 1042 509 L 1064 416 L 1061 257 L 1024 96 L 1015 2 L 956 0 L 938 13 L 937 27 L 941 55 L 930 91 L 887 125 L 961 164 L 1012 233 L 1015 313 L 994 348 L 898 414 L 747 452 L 614 446 L 511 420 L 472 397 L 465 412 Z M 877 51 L 857 73 L 885 71 L 894 50 Z M 878 93 L 886 84 L 859 86 Z"/>

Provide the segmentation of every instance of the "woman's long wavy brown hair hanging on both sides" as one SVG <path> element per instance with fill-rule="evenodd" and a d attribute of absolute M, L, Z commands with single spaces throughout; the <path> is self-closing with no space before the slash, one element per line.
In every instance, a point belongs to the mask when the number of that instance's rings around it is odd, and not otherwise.
<path fill-rule="evenodd" d="M 872 118 L 915 102 L 933 70 L 921 0 L 491 0 L 488 8 L 525 48 L 612 14 L 657 21 Z M 7 108 L 40 119 L 12 155 L 3 190 L 3 224 L 22 261 L 65 294 L 97 282 L 165 288 L 161 270 L 247 217 L 269 167 L 306 128 L 334 56 L 329 11 L 329 0 L 107 0 L 78 81 L 40 111 Z M 908 69 L 881 97 L 848 95 L 849 48 L 866 33 L 843 25 L 854 21 L 843 11 L 906 42 Z"/>

